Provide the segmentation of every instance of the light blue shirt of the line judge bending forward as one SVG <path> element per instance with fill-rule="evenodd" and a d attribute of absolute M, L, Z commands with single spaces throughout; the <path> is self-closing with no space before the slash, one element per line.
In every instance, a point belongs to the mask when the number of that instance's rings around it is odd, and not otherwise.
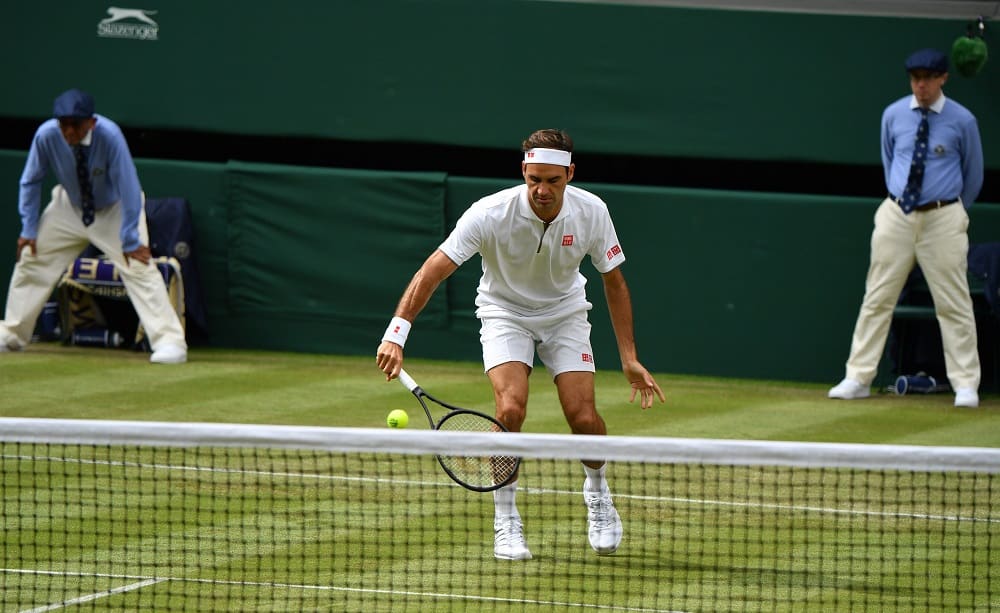
<path fill-rule="evenodd" d="M 94 206 L 107 208 L 121 202 L 122 226 L 119 236 L 122 251 L 141 246 L 139 215 L 142 212 L 142 186 L 132 161 L 128 143 L 118 124 L 103 115 L 94 115 L 97 123 L 84 139 L 90 168 Z M 89 140 L 89 142 L 88 142 Z M 52 171 L 73 204 L 80 206 L 80 181 L 76 176 L 76 158 L 59 130 L 59 120 L 49 119 L 35 131 L 28 151 L 28 161 L 21 174 L 18 210 L 21 213 L 21 236 L 38 238 L 38 219 L 42 209 L 42 181 Z M 81 228 L 83 222 L 80 222 Z"/>

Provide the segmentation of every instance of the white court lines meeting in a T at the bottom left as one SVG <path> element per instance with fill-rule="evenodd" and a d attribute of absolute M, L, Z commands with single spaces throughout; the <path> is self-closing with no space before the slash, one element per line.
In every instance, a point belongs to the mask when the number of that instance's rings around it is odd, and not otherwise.
<path fill-rule="evenodd" d="M 70 572 L 59 572 L 59 571 L 49 571 L 49 570 L 28 570 L 28 569 L 17 569 L 17 568 L 0 568 L 0 573 L 20 573 L 24 575 L 58 575 L 58 576 L 71 576 L 71 577 L 101 577 L 110 579 L 142 579 L 142 577 L 134 575 L 110 575 L 105 573 L 87 574 L 79 572 L 70 573 Z M 239 586 L 266 587 L 266 588 L 279 588 L 279 589 L 316 590 L 322 592 L 352 592 L 356 594 L 379 594 L 384 596 L 416 596 L 419 598 L 438 598 L 442 600 L 501 602 L 507 604 L 543 606 L 548 608 L 562 607 L 562 608 L 576 608 L 576 609 L 591 609 L 595 611 L 624 611 L 626 613 L 685 613 L 684 611 L 678 611 L 673 609 L 629 608 L 618 605 L 598 605 L 598 604 L 588 604 L 584 602 L 561 602 L 558 600 L 535 600 L 531 598 L 500 598 L 497 596 L 472 596 L 469 594 L 447 594 L 444 592 L 379 590 L 371 588 L 340 587 L 335 585 L 305 585 L 296 583 L 272 583 L 264 581 L 221 581 L 218 579 L 185 579 L 181 577 L 160 577 L 160 578 L 149 577 L 143 581 L 140 581 L 139 583 L 134 583 L 132 585 L 115 588 L 114 590 L 101 592 L 100 594 L 83 596 L 81 598 L 67 600 L 60 604 L 41 607 L 38 609 L 30 609 L 27 611 L 21 611 L 20 613 L 40 613 L 42 611 L 52 611 L 67 605 L 79 604 L 81 602 L 87 602 L 88 600 L 95 600 L 97 598 L 102 598 L 104 596 L 108 596 L 117 592 L 125 592 L 131 589 L 137 589 L 139 587 L 152 585 L 154 583 L 160 583 L 162 581 L 203 583 L 209 585 L 239 585 Z"/>

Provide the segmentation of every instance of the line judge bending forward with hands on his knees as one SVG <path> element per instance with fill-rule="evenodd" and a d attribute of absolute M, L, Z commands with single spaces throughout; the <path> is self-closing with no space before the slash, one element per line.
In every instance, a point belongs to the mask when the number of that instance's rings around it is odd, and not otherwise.
<path fill-rule="evenodd" d="M 59 184 L 42 211 L 42 181 L 50 170 Z M 21 235 L 0 321 L 0 352 L 17 351 L 30 342 L 56 283 L 93 243 L 121 275 L 153 348 L 150 361 L 187 361 L 184 328 L 151 261 L 144 206 L 121 129 L 94 112 L 90 94 L 78 89 L 60 94 L 53 119 L 35 132 L 21 175 Z"/>

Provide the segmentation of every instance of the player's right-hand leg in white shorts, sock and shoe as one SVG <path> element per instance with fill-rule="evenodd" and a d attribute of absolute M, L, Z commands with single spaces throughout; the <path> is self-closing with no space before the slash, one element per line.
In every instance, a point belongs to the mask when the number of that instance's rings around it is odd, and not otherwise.
<path fill-rule="evenodd" d="M 607 434 L 604 419 L 597 412 L 594 353 L 586 312 L 570 315 L 546 328 L 541 336 L 538 355 L 553 376 L 570 430 L 574 434 Z M 603 459 L 585 459 L 583 470 L 587 538 L 598 555 L 610 555 L 621 545 L 624 530 L 608 487 L 607 463 Z"/>

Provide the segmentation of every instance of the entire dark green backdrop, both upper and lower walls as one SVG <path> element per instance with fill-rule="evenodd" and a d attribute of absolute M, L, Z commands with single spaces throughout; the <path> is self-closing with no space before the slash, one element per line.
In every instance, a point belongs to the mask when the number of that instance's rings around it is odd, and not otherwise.
<path fill-rule="evenodd" d="M 41 120 L 54 95 L 79 86 L 139 130 L 510 150 L 558 126 L 577 140 L 581 169 L 588 154 L 877 167 L 882 109 L 908 93 L 903 59 L 950 48 L 966 26 L 541 0 L 173 0 L 113 12 L 97 0 L 6 6 L 0 118 Z M 987 42 L 997 47 L 995 28 Z M 998 70 L 991 61 L 946 86 L 979 118 L 990 169 L 1000 169 Z M 198 146 L 193 136 L 192 159 Z M 11 253 L 21 147 L 0 151 L 0 245 Z M 519 180 L 516 159 L 504 182 L 228 157 L 137 163 L 147 195 L 190 200 L 210 342 L 233 347 L 373 352 L 461 211 Z M 837 193 L 838 177 L 828 180 L 815 193 Z M 869 199 L 581 185 L 615 217 L 647 365 L 841 375 L 879 186 Z M 997 240 L 1000 207 L 977 204 L 970 234 Z M 599 366 L 612 368 L 600 280 L 588 275 Z M 411 355 L 478 359 L 477 278 L 470 262 L 448 281 Z"/>

